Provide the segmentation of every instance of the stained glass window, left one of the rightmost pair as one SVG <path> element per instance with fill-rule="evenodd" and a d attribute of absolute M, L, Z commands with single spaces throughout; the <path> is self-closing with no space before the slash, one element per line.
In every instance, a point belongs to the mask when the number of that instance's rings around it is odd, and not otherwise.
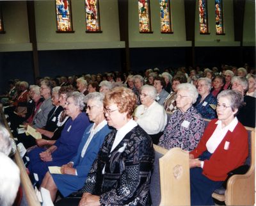
<path fill-rule="evenodd" d="M 199 0 L 200 34 L 208 34 L 207 0 Z"/>

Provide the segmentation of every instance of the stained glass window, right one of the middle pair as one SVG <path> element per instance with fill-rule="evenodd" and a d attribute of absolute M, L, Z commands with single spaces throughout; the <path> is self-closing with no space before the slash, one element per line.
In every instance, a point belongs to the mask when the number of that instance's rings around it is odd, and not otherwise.
<path fill-rule="evenodd" d="M 159 0 L 160 4 L 160 24 L 161 33 L 172 32 L 172 24 L 170 18 L 170 1 L 169 0 Z"/>

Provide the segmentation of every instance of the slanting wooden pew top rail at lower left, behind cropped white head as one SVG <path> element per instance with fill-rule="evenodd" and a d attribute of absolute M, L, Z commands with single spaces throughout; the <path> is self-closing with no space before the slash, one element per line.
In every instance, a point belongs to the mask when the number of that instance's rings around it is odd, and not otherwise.
<path fill-rule="evenodd" d="M 0 107 L 0 118 L 1 118 L 1 122 L 3 123 L 3 125 L 10 132 L 11 138 L 13 138 L 12 132 L 10 131 L 10 128 L 8 126 L 6 118 L 3 114 L 2 107 Z M 25 168 L 24 163 L 20 157 L 18 148 L 17 148 L 17 152 L 14 155 L 14 159 L 15 159 L 17 166 L 19 166 L 19 168 L 20 168 L 20 180 L 21 180 L 22 188 L 25 192 L 26 201 L 27 201 L 28 205 L 29 206 L 40 206 L 41 204 L 38 201 L 38 198 L 35 193 L 35 189 L 33 188 L 31 181 L 28 177 L 28 173 L 26 172 L 26 168 Z"/>

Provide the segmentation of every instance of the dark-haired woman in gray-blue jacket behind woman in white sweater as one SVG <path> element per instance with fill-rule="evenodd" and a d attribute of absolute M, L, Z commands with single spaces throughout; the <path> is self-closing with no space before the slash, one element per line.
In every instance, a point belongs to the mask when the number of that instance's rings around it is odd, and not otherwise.
<path fill-rule="evenodd" d="M 156 101 L 158 104 L 162 105 L 164 104 L 164 100 L 170 95 L 167 91 L 164 90 L 165 87 L 165 81 L 163 77 L 156 77 L 154 79 L 154 88 L 156 88 L 157 91 L 157 97 Z"/>

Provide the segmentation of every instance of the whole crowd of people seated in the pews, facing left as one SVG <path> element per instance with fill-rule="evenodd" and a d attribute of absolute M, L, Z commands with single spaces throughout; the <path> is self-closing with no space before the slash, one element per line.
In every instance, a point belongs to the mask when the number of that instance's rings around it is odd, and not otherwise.
<path fill-rule="evenodd" d="M 150 205 L 153 143 L 189 151 L 191 205 L 212 205 L 211 193 L 248 155 L 253 72 L 225 65 L 38 77 L 30 86 L 15 79 L 0 98 L 13 137 L 27 149 L 30 176 L 56 205 Z"/>

